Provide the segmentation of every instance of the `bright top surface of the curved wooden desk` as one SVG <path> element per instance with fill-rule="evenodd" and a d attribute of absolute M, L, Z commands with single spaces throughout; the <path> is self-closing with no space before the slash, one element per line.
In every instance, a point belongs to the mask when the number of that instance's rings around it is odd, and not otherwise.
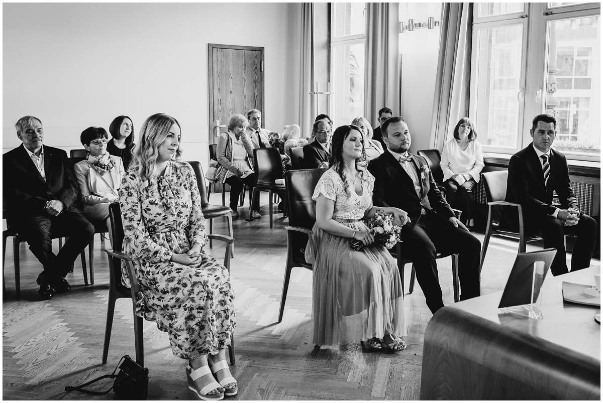
<path fill-rule="evenodd" d="M 538 320 L 516 314 L 499 314 L 497 307 L 502 291 L 449 306 L 601 361 L 601 325 L 594 319 L 601 308 L 564 302 L 561 293 L 563 281 L 594 286 L 595 274 L 601 274 L 601 267 L 556 277 L 549 272 L 540 292 L 543 318 Z"/>

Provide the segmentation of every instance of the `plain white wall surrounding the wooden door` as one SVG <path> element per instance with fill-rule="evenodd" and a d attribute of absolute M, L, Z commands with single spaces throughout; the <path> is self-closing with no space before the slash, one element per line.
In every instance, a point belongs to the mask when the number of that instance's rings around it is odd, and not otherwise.
<path fill-rule="evenodd" d="M 289 72 L 294 5 L 3 4 L 2 148 L 19 145 L 14 122 L 42 119 L 45 144 L 81 148 L 89 126 L 153 113 L 182 125 L 185 160 L 207 165 L 207 43 L 264 46 L 265 126 L 282 131 L 297 110 Z M 253 25 L 248 20 L 253 16 Z M 289 45 L 289 46 L 288 46 Z M 286 59 L 286 55 L 288 59 Z"/>

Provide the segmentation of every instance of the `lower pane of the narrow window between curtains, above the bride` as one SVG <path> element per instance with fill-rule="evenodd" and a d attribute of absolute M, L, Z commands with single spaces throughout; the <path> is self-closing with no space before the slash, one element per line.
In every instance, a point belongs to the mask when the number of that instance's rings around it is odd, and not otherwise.
<path fill-rule="evenodd" d="M 336 126 L 349 125 L 364 114 L 364 42 L 332 47 L 333 87 L 332 119 Z"/>

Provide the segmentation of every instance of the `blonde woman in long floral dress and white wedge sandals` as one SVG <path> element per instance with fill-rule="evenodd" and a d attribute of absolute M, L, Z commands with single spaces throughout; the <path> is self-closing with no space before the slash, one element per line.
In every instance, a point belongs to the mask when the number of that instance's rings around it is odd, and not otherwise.
<path fill-rule="evenodd" d="M 199 399 L 221 400 L 238 390 L 226 363 L 234 295 L 227 269 L 203 252 L 197 180 L 192 167 L 178 161 L 180 154 L 177 120 L 148 117 L 119 189 L 123 252 L 134 257 L 136 314 L 156 322 L 174 355 L 188 360 L 189 389 Z M 129 286 L 125 272 L 122 278 Z"/>

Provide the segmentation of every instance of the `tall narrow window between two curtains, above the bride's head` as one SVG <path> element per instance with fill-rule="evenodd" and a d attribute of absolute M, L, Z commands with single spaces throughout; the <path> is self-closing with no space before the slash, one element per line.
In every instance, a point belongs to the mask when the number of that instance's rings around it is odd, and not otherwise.
<path fill-rule="evenodd" d="M 331 118 L 346 125 L 364 114 L 365 3 L 332 3 Z M 320 111 L 318 111 L 320 113 Z"/>

